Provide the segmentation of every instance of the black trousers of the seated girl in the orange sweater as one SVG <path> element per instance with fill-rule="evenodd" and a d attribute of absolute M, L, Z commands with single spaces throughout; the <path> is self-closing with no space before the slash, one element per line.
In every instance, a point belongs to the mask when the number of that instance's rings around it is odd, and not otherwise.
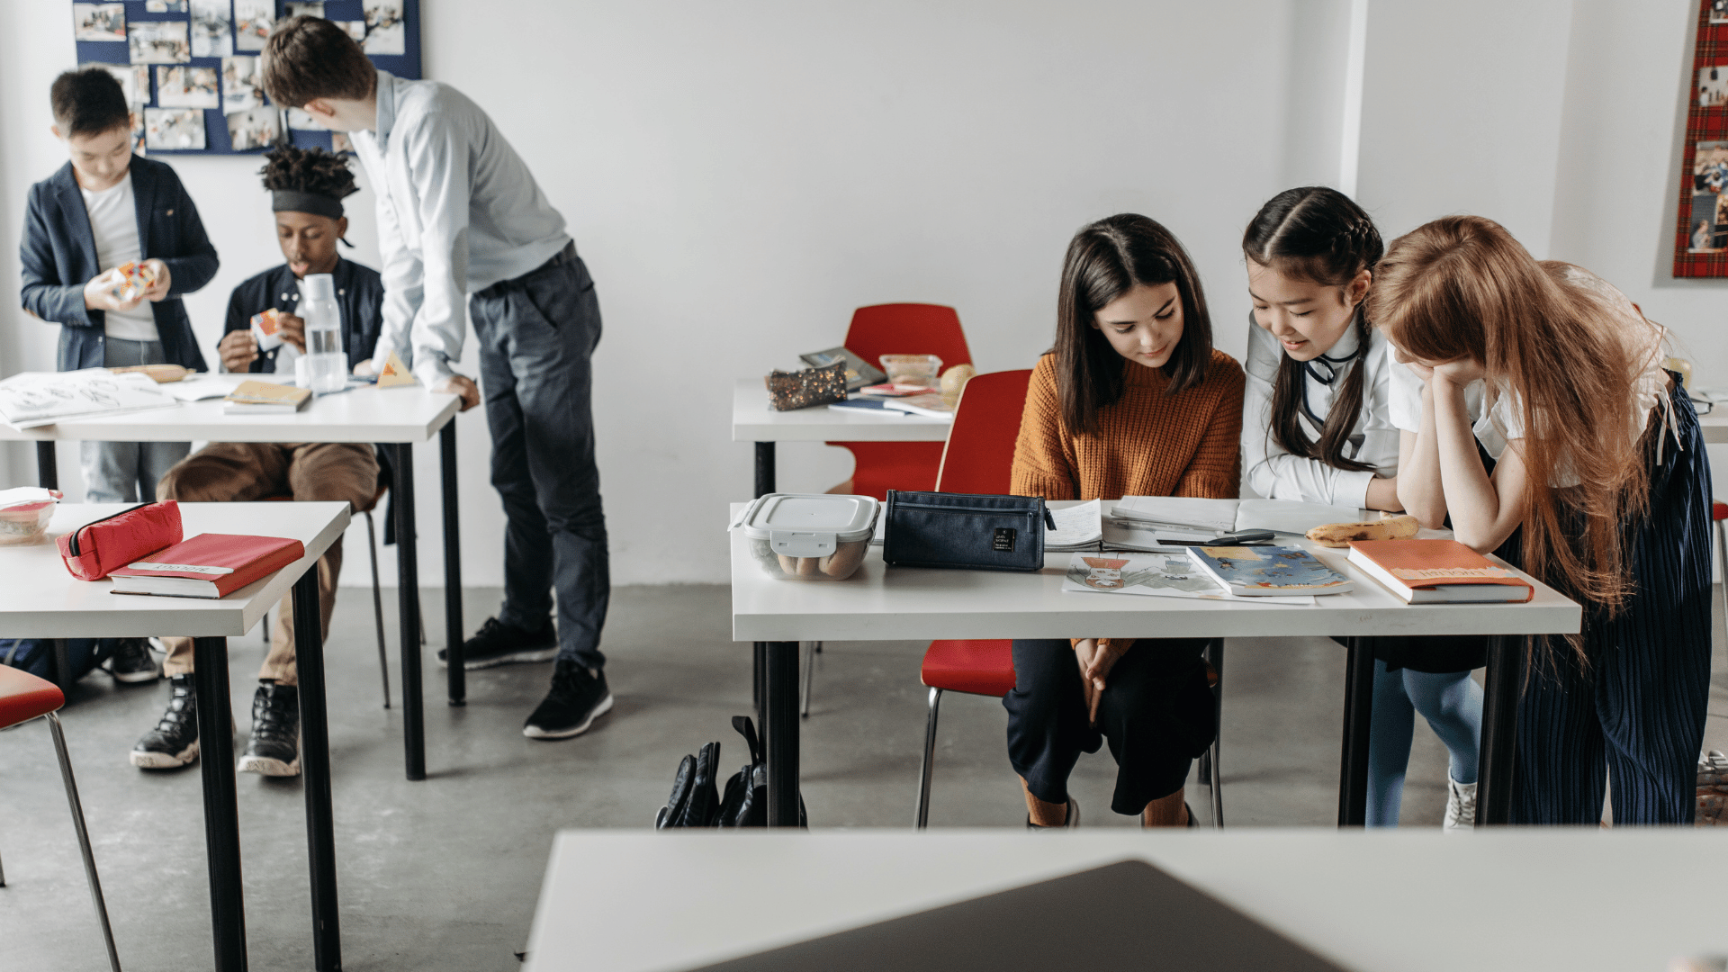
<path fill-rule="evenodd" d="M 1109 669 L 1090 725 L 1080 666 L 1066 640 L 1014 640 L 1007 759 L 1032 796 L 1068 803 L 1068 775 L 1082 752 L 1108 739 L 1116 758 L 1109 808 L 1137 816 L 1187 782 L 1211 745 L 1217 699 L 1206 687 L 1204 638 L 1140 638 Z"/>

